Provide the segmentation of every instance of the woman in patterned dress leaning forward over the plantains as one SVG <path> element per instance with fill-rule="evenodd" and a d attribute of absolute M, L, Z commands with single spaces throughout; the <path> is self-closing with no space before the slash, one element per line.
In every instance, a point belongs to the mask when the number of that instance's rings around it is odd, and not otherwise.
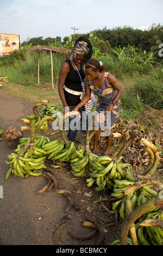
<path fill-rule="evenodd" d="M 116 126 L 120 112 L 120 97 L 123 94 L 123 88 L 116 78 L 105 72 L 105 66 L 97 59 L 89 59 L 85 65 L 87 75 L 86 87 L 90 87 L 90 92 L 98 96 L 96 118 L 98 124 L 102 124 L 94 136 L 92 153 L 97 151 L 98 138 L 102 130 L 107 130 L 107 145 L 103 155 L 109 155 L 112 138 L 109 134 L 113 132 Z M 99 121 L 100 120 L 100 121 Z M 95 122 L 96 123 L 96 122 Z"/>

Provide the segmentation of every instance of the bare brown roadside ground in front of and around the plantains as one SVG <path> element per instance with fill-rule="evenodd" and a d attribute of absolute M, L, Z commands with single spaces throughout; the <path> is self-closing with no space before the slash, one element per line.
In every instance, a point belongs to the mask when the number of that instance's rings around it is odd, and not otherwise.
<path fill-rule="evenodd" d="M 5 131 L 12 125 L 20 130 L 22 124 L 17 123 L 17 119 L 30 114 L 33 106 L 4 92 L 0 92 L 0 97 L 2 129 Z M 42 135 L 48 136 L 52 131 L 49 127 Z M 25 131 L 23 136 L 28 137 L 29 133 Z M 49 137 L 51 141 L 55 136 L 57 135 Z M 8 160 L 8 154 L 14 149 L 10 149 L 3 140 L 0 142 L 0 151 L 0 185 L 3 188 L 3 198 L 0 198 L 0 245 L 98 245 L 98 231 L 87 240 L 74 239 L 68 233 L 72 230 L 77 234 L 89 234 L 92 228 L 82 225 L 87 220 L 87 215 L 93 216 L 102 225 L 103 246 L 110 245 L 118 238 L 121 221 L 111 212 L 109 193 L 96 192 L 95 187 L 87 187 L 84 178 L 74 177 L 70 169 L 65 168 L 54 171 L 58 181 L 56 191 L 36 194 L 37 190 L 46 185 L 47 180 L 42 176 L 28 176 L 23 179 L 11 174 L 5 181 L 5 174 L 9 169 L 5 160 Z M 58 193 L 61 188 L 74 193 L 78 209 L 72 207 L 65 213 L 69 202 Z M 67 214 L 70 215 L 70 220 L 62 224 L 62 217 Z"/>

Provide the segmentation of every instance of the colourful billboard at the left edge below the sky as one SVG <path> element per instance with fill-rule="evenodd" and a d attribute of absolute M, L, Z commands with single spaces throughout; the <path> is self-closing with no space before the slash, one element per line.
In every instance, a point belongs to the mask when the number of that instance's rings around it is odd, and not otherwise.
<path fill-rule="evenodd" d="M 20 36 L 0 33 L 0 57 L 16 49 L 20 50 Z"/>

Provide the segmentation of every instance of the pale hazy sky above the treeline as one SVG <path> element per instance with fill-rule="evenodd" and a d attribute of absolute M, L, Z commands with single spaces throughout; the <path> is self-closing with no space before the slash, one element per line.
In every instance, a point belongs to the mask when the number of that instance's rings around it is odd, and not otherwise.
<path fill-rule="evenodd" d="M 144 30 L 163 26 L 162 14 L 163 0 L 0 0 L 0 34 L 18 34 L 23 42 L 105 27 Z"/>

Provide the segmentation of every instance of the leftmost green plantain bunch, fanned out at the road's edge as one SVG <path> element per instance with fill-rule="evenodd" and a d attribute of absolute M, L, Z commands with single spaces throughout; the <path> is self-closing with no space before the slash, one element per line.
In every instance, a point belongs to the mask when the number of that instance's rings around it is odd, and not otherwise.
<path fill-rule="evenodd" d="M 44 164 L 46 156 L 40 156 L 34 159 L 33 157 L 28 157 L 28 152 L 26 152 L 24 156 L 11 153 L 8 155 L 8 159 L 9 161 L 5 160 L 5 163 L 8 164 L 10 168 L 5 175 L 5 180 L 9 178 L 11 173 L 21 178 L 26 178 L 29 175 L 39 176 L 42 172 L 34 173 L 33 170 L 46 168 Z"/>

